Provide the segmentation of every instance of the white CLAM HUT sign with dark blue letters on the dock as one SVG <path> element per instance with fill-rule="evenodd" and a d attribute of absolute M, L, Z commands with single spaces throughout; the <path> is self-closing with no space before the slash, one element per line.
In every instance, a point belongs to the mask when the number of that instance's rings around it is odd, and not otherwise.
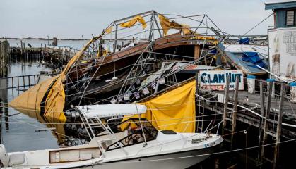
<path fill-rule="evenodd" d="M 204 70 L 199 73 L 201 89 L 224 90 L 227 76 L 230 77 L 230 90 L 235 89 L 235 80 L 239 77 L 239 90 L 244 90 L 242 70 Z"/>

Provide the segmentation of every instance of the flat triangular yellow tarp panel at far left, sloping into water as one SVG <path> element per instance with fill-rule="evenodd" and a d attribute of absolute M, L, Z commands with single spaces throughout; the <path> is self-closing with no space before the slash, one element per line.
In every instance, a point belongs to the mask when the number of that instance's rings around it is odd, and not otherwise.
<path fill-rule="evenodd" d="M 40 104 L 47 92 L 48 88 L 57 79 L 57 76 L 50 77 L 49 79 L 40 82 L 28 89 L 27 91 L 23 92 L 13 99 L 8 105 L 13 108 L 23 109 L 24 111 L 40 111 Z"/>

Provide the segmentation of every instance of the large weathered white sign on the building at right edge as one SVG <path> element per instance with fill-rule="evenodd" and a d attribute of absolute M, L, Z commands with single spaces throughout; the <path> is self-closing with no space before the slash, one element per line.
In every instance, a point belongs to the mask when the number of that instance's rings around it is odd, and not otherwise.
<path fill-rule="evenodd" d="M 283 79 L 296 79 L 296 28 L 268 30 L 269 67 Z"/>

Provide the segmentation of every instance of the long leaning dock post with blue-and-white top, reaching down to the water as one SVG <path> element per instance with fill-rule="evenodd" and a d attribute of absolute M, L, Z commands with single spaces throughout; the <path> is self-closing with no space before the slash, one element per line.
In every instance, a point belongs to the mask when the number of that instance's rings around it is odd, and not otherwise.
<path fill-rule="evenodd" d="M 262 140 L 262 145 L 266 143 L 267 139 L 267 130 L 268 130 L 268 124 L 267 120 L 269 118 L 269 113 L 271 112 L 271 94 L 273 90 L 273 82 L 274 79 L 267 79 L 266 82 L 268 82 L 268 94 L 267 94 L 267 104 L 266 104 L 266 113 L 265 113 L 265 120 L 264 120 L 264 132 L 263 132 L 263 140 Z M 261 161 L 263 160 L 264 157 L 264 146 L 262 146 L 261 149 Z"/>

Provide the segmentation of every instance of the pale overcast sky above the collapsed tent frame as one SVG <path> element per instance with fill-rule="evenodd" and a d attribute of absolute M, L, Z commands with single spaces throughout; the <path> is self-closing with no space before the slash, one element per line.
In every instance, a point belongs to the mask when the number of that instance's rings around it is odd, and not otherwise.
<path fill-rule="evenodd" d="M 272 13 L 262 0 L 0 0 L 0 37 L 80 38 L 143 11 L 207 14 L 221 30 L 244 34 Z M 267 34 L 268 18 L 249 34 Z"/>

